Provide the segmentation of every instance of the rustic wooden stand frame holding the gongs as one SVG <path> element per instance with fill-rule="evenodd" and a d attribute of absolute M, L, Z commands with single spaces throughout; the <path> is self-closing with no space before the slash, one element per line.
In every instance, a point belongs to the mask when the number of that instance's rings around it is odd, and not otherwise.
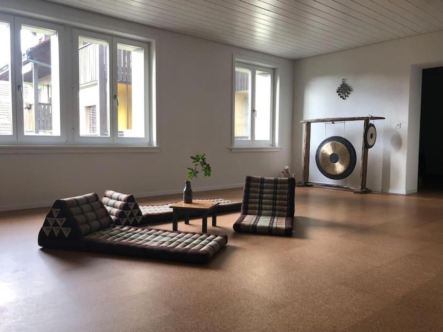
<path fill-rule="evenodd" d="M 303 142 L 303 175 L 300 187 L 320 187 L 320 188 L 331 188 L 338 190 L 347 190 L 354 193 L 369 193 L 371 190 L 366 188 L 366 175 L 368 173 L 368 148 L 365 144 L 365 132 L 366 127 L 369 125 L 371 120 L 385 120 L 383 117 L 352 117 L 352 118 L 324 118 L 324 119 L 311 119 L 311 120 L 301 120 L 301 123 L 305 124 L 304 130 L 304 142 Z M 360 159 L 360 184 L 358 188 L 353 188 L 340 184 L 329 184 L 329 183 L 318 183 L 309 181 L 309 159 L 311 150 L 311 123 L 318 122 L 346 122 L 346 121 L 363 121 L 363 142 L 361 150 Z"/>

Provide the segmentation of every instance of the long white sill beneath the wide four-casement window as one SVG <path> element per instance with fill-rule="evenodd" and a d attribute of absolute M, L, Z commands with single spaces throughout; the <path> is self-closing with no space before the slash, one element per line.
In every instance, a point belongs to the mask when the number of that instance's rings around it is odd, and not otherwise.
<path fill-rule="evenodd" d="M 0 154 L 150 153 L 158 146 L 139 145 L 0 145 Z"/>

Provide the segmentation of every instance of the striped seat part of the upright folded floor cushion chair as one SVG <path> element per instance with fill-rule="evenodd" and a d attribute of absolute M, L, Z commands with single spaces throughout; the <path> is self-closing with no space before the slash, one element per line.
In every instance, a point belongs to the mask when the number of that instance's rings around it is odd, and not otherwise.
<path fill-rule="evenodd" d="M 293 225 L 293 217 L 242 214 L 234 223 L 233 228 L 236 232 L 290 236 Z"/>

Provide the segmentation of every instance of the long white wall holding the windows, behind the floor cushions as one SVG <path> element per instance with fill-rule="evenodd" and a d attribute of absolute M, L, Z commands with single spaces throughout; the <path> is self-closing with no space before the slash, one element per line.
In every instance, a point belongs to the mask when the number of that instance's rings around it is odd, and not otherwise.
<path fill-rule="evenodd" d="M 139 196 L 180 192 L 189 156 L 199 152 L 207 154 L 213 176 L 193 181 L 194 189 L 241 186 L 245 175 L 277 176 L 290 162 L 293 61 L 45 1 L 2 0 L 0 10 L 8 8 L 154 38 L 160 152 L 0 153 L 0 210 L 48 206 L 56 198 L 106 189 Z M 229 149 L 232 54 L 279 64 L 279 152 Z"/>

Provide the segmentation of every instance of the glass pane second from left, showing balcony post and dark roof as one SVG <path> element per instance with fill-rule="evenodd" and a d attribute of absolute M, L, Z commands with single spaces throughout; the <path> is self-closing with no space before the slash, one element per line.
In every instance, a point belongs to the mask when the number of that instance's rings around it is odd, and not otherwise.
<path fill-rule="evenodd" d="M 58 34 L 21 26 L 25 135 L 60 136 Z"/>

